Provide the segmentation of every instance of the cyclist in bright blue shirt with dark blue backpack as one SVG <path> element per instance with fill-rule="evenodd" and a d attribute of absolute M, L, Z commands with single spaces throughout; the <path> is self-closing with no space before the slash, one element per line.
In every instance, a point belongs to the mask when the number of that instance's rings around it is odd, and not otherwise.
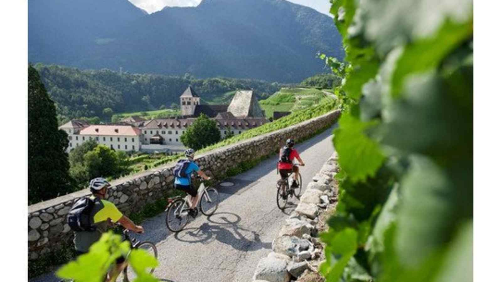
<path fill-rule="evenodd" d="M 204 178 L 205 180 L 210 180 L 211 178 L 208 177 L 203 171 L 199 169 L 199 166 L 195 164 L 193 161 L 193 157 L 195 155 L 195 151 L 193 149 L 187 149 L 185 150 L 185 157 L 188 158 L 190 161 L 190 164 L 185 170 L 185 174 L 187 177 L 176 177 L 174 180 L 174 188 L 184 191 L 190 195 L 190 209 L 188 211 L 188 214 L 195 218 L 197 215 L 196 209 L 197 209 L 197 203 L 199 202 L 200 195 L 198 195 L 197 189 L 192 186 L 192 181 L 191 181 L 191 175 L 193 172 L 197 172 L 197 174 Z"/>

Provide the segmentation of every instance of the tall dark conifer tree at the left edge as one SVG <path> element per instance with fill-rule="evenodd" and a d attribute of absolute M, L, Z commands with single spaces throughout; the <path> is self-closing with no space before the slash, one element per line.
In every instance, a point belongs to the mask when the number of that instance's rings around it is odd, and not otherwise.
<path fill-rule="evenodd" d="M 56 107 L 35 68 L 28 66 L 28 201 L 72 191 L 68 134 L 58 129 Z"/>

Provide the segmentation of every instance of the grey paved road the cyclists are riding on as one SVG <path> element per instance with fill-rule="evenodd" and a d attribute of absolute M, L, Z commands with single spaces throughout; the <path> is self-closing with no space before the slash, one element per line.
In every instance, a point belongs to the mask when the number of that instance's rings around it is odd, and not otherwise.
<path fill-rule="evenodd" d="M 306 164 L 300 167 L 302 192 L 334 152 L 332 131 L 333 127 L 295 147 Z M 217 187 L 220 205 L 216 213 L 210 217 L 199 213 L 177 234 L 167 229 L 165 213 L 143 222 L 145 234 L 133 236 L 156 244 L 159 266 L 155 276 L 175 282 L 249 281 L 298 204 L 296 198 L 290 198 L 284 212 L 277 207 L 277 159 L 272 157 L 225 180 L 233 185 Z M 51 273 L 31 281 L 58 280 Z"/>

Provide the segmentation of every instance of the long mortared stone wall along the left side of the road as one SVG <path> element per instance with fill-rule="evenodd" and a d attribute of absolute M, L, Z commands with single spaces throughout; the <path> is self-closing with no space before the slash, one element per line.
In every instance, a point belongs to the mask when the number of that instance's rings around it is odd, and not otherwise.
<path fill-rule="evenodd" d="M 339 117 L 332 111 L 302 123 L 243 140 L 196 156 L 195 162 L 211 176 L 224 176 L 241 162 L 249 162 L 276 152 L 287 138 L 302 139 L 332 124 Z M 174 164 L 159 167 L 133 177 L 112 182 L 108 201 L 117 205 L 124 214 L 142 210 L 146 204 L 165 197 L 173 189 L 172 169 Z M 65 223 L 65 217 L 79 197 L 90 195 L 82 190 L 28 207 L 28 257 L 38 259 L 41 255 L 63 248 L 73 240 L 73 232 Z"/>

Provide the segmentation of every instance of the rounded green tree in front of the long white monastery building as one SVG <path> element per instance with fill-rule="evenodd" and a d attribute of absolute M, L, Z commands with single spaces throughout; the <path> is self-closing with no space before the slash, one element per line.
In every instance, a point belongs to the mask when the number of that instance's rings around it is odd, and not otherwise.
<path fill-rule="evenodd" d="M 215 144 L 220 139 L 221 135 L 216 126 L 216 121 L 209 119 L 205 114 L 197 117 L 192 125 L 188 126 L 187 130 L 185 130 L 185 133 L 181 135 L 183 145 L 194 150 Z"/>

